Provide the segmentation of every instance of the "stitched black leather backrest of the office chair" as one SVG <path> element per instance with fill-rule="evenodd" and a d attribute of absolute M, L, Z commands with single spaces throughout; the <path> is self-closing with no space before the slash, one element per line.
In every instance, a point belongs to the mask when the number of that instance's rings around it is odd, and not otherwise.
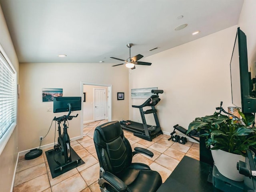
<path fill-rule="evenodd" d="M 105 171 L 118 174 L 132 163 L 132 148 L 119 121 L 96 127 L 94 144 L 100 167 Z"/>

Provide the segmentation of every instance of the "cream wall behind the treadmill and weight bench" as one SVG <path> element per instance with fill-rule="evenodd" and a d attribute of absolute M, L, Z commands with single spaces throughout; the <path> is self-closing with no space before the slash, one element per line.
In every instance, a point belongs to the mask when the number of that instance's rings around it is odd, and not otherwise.
<path fill-rule="evenodd" d="M 196 117 L 211 115 L 223 101 L 232 106 L 230 59 L 237 26 L 152 55 L 143 61 L 151 66 L 136 66 L 129 80 L 132 88 L 158 87 L 164 90 L 156 106 L 163 131 L 173 131 L 176 124 L 187 128 Z M 203 29 L 202 29 L 203 30 Z M 132 105 L 144 100 L 130 99 L 130 119 L 140 118 Z M 151 116 L 150 116 L 151 115 Z M 154 123 L 152 114 L 146 115 Z"/>

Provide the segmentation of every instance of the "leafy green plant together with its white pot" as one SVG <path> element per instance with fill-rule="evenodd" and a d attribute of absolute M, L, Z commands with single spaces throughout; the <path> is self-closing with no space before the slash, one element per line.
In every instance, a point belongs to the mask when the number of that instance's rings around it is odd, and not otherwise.
<path fill-rule="evenodd" d="M 196 118 L 191 122 L 187 133 L 192 130 L 204 129 L 205 133 L 200 136 L 206 137 L 206 147 L 210 148 L 218 171 L 227 178 L 242 181 L 243 175 L 239 174 L 236 169 L 236 162 L 245 161 L 246 149 L 256 151 L 256 128 L 252 126 L 254 125 L 254 115 L 243 114 L 239 111 L 242 119 L 230 118 L 221 114 L 222 111 L 229 114 L 221 106 L 216 109 L 219 109 L 220 112 Z M 218 155 L 220 156 L 218 157 Z M 225 155 L 227 155 L 226 158 L 224 158 Z M 232 163 L 232 161 L 234 162 Z M 228 165 L 232 167 L 229 168 Z M 226 170 L 222 170 L 222 168 Z"/>

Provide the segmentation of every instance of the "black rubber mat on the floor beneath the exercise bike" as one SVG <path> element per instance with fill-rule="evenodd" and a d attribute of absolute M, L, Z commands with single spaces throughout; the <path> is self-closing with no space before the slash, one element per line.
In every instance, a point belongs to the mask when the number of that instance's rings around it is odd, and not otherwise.
<path fill-rule="evenodd" d="M 55 153 L 55 155 L 54 155 L 54 153 Z M 71 153 L 72 161 L 75 161 L 76 159 L 81 159 L 71 147 L 70 147 L 70 153 Z M 45 154 L 47 157 L 48 165 L 50 167 L 52 178 L 55 178 L 73 168 L 76 168 L 76 167 L 84 164 L 84 161 L 81 159 L 79 163 L 73 163 L 67 167 L 62 168 L 61 171 L 60 170 L 54 171 L 54 169 L 60 167 L 60 165 L 62 165 L 62 166 L 65 165 L 64 155 L 61 155 L 60 150 L 57 150 L 57 151 L 49 150 L 49 151 L 46 151 Z M 54 161 L 54 159 L 56 161 L 58 161 L 60 163 L 60 165 L 58 165 Z"/>

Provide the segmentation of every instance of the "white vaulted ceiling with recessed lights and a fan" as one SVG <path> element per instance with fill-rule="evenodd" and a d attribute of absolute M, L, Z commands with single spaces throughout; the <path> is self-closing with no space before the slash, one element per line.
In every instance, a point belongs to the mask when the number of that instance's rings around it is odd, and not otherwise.
<path fill-rule="evenodd" d="M 0 4 L 20 63 L 120 63 L 110 57 L 127 59 L 127 43 L 134 43 L 131 56 L 147 57 L 236 25 L 243 0 L 0 0 Z M 174 30 L 181 24 L 188 26 Z M 192 35 L 197 30 L 200 33 Z M 159 48 L 148 51 L 154 47 Z"/>

